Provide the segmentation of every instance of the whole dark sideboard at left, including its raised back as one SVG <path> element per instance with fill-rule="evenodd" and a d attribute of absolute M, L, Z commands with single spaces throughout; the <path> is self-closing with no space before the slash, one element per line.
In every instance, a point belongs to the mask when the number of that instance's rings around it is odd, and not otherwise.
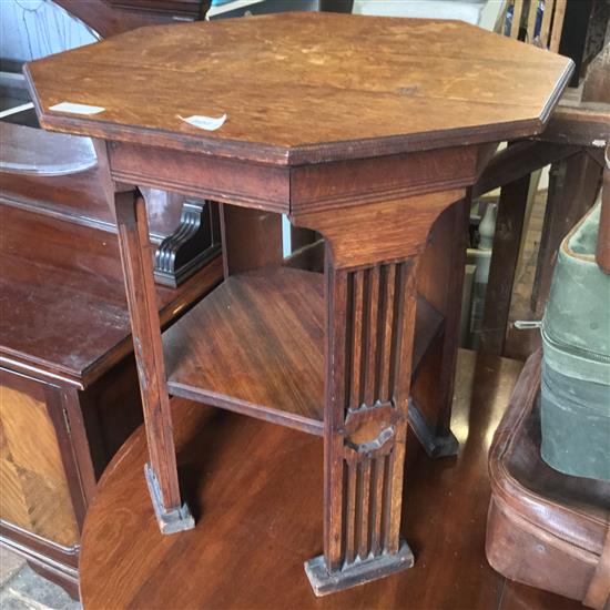
<path fill-rule="evenodd" d="M 210 2 L 58 3 L 110 35 L 196 19 Z M 78 597 L 81 528 L 96 480 L 142 421 L 138 374 L 94 155 L 28 116 L 10 121 L 0 123 L 0 543 Z M 149 196 L 159 247 L 180 224 L 183 197 Z M 177 289 L 159 286 L 163 324 L 222 275 L 216 255 Z"/>

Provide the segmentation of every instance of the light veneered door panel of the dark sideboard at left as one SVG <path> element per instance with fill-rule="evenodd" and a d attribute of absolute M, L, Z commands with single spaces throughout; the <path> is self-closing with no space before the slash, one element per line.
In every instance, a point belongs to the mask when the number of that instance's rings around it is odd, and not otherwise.
<path fill-rule="evenodd" d="M 72 547 L 79 530 L 44 389 L 9 379 L 0 385 L 0 518 Z"/>

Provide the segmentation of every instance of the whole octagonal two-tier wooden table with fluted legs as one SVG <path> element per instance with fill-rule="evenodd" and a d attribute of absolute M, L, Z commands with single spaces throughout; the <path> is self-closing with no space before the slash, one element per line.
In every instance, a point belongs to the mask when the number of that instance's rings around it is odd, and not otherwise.
<path fill-rule="evenodd" d="M 26 71 L 41 124 L 96 138 L 106 155 L 161 530 L 194 525 L 172 393 L 324 436 L 324 553 L 306 563 L 317 594 L 410 567 L 399 526 L 425 350 L 414 348 L 419 255 L 490 146 L 542 130 L 571 62 L 457 22 L 294 13 L 140 29 Z M 61 101 L 105 110 L 50 110 Z M 180 119 L 201 114 L 227 119 L 216 131 Z M 145 201 L 123 183 L 317 231 L 325 298 L 304 272 L 230 276 L 165 334 L 164 360 Z M 221 311 L 231 324 L 200 324 Z"/>

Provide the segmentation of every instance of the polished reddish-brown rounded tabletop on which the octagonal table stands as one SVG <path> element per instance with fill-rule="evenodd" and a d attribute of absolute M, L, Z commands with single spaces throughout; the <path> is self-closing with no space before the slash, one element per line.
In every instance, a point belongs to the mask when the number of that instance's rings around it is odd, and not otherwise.
<path fill-rule="evenodd" d="M 303 562 L 322 550 L 322 439 L 175 399 L 179 462 L 197 525 L 159 533 L 139 430 L 108 468 L 87 518 L 85 610 L 582 608 L 507 582 L 485 559 L 487 451 L 520 368 L 460 353 L 459 456 L 433 461 L 408 438 L 403 532 L 415 567 L 321 599 Z"/>

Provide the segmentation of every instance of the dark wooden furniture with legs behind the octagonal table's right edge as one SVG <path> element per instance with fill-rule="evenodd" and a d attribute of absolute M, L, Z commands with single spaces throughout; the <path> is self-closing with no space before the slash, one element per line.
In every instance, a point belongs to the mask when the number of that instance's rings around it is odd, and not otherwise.
<path fill-rule="evenodd" d="M 499 152 L 472 189 L 501 186 L 480 348 L 504 354 L 531 173 L 551 164 L 531 312 L 541 317 L 561 240 L 596 202 L 610 142 L 610 43 L 589 64 L 577 92 L 568 90 L 549 126 L 530 142 Z M 536 331 L 537 332 L 537 331 Z"/>

